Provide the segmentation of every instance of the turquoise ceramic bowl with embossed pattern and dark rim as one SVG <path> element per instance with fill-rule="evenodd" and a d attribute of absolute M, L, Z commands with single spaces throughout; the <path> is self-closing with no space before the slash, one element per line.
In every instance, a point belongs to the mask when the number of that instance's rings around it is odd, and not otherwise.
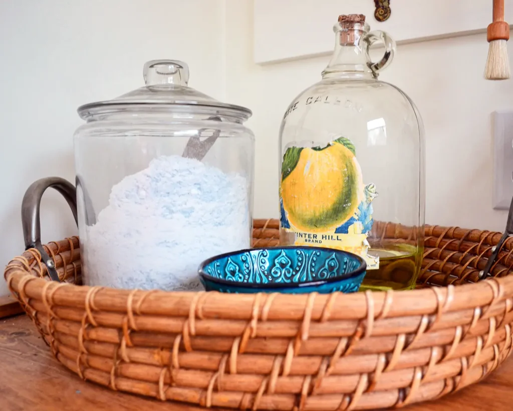
<path fill-rule="evenodd" d="M 207 291 L 229 293 L 354 292 L 367 265 L 346 251 L 319 247 L 254 248 L 205 260 L 199 269 Z"/>

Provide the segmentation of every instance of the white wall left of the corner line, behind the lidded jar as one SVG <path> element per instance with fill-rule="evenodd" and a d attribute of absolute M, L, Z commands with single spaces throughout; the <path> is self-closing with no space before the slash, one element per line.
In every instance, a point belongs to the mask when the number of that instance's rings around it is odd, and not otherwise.
<path fill-rule="evenodd" d="M 23 252 L 20 207 L 34 180 L 74 182 L 76 108 L 144 85 L 152 59 L 186 61 L 189 84 L 224 100 L 222 0 L 0 1 L 0 264 Z M 43 242 L 76 234 L 53 190 Z M 0 295 L 6 294 L 3 269 Z"/>

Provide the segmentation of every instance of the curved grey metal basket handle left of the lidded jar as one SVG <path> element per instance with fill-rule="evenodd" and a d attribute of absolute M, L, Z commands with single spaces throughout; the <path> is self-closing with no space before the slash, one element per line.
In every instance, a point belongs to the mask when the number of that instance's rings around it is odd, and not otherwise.
<path fill-rule="evenodd" d="M 48 256 L 41 245 L 41 220 L 40 207 L 41 198 L 46 189 L 51 187 L 63 195 L 67 201 L 75 223 L 77 222 L 76 213 L 76 191 L 73 184 L 64 178 L 48 177 L 33 182 L 25 192 L 22 201 L 22 227 L 23 239 L 25 241 L 25 250 L 35 248 L 41 253 L 42 262 L 48 269 L 48 275 L 53 281 L 60 281 L 55 270 L 54 261 Z"/>

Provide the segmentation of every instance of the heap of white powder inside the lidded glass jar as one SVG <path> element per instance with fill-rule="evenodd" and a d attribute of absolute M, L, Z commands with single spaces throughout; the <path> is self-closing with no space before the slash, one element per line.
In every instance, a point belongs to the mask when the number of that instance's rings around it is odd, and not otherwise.
<path fill-rule="evenodd" d="M 89 285 L 193 290 L 206 258 L 250 246 L 245 177 L 180 156 L 112 187 L 83 243 Z"/>

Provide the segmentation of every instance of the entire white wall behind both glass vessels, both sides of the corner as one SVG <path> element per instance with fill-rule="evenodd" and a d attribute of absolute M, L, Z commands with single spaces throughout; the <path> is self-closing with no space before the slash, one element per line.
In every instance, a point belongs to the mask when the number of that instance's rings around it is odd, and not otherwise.
<path fill-rule="evenodd" d="M 0 2 L 0 264 L 23 251 L 20 206 L 29 184 L 51 175 L 74 180 L 76 107 L 141 86 L 142 66 L 155 58 L 186 61 L 192 87 L 253 110 L 255 216 L 277 217 L 280 121 L 329 57 L 255 65 L 251 13 L 249 0 Z M 428 223 L 505 225 L 506 213 L 491 207 L 490 113 L 513 108 L 513 80 L 483 80 L 487 48 L 482 34 L 400 46 L 381 76 L 406 91 L 424 119 Z M 53 192 L 42 202 L 42 233 L 44 242 L 76 233 Z"/>

